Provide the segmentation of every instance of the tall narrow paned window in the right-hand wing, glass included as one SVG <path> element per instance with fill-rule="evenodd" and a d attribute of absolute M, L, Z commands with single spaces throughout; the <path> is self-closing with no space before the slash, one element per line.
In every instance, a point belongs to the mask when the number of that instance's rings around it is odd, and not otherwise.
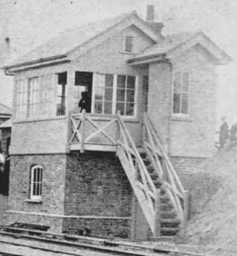
<path fill-rule="evenodd" d="M 173 114 L 190 112 L 190 73 L 175 72 L 173 78 Z"/>

